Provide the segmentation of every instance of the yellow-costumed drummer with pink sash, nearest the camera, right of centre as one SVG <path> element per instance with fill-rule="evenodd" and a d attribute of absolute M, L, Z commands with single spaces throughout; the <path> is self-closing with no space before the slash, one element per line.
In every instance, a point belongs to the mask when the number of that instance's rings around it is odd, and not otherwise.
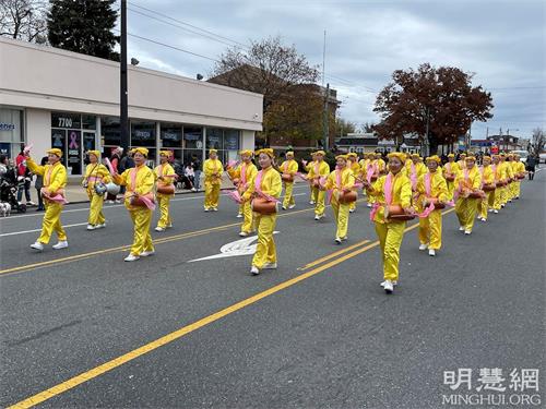
<path fill-rule="evenodd" d="M 405 214 L 414 214 L 412 207 L 412 183 L 404 171 L 404 154 L 390 153 L 389 173 L 380 177 L 373 184 L 364 182 L 368 194 L 375 195 L 378 202 L 373 205 L 370 218 L 376 224 L 376 232 L 381 245 L 383 258 L 384 291 L 391 293 L 399 280 L 400 246 L 404 238 L 405 221 L 387 218 L 385 206 L 401 206 Z"/>

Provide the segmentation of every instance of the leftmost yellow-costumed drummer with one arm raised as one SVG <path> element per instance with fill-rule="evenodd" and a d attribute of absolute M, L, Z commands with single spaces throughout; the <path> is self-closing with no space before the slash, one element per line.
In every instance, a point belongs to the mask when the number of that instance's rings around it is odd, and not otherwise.
<path fill-rule="evenodd" d="M 61 164 L 62 151 L 52 148 L 47 151 L 48 165 L 39 166 L 28 156 L 28 152 L 24 151 L 26 166 L 35 173 L 44 177 L 44 187 L 40 194 L 44 197 L 46 214 L 41 221 L 41 233 L 31 248 L 35 250 L 44 250 L 44 244 L 49 243 L 51 234 L 55 231 L 59 242 L 54 245 L 55 250 L 68 248 L 67 233 L 61 225 L 62 206 L 66 203 L 64 187 L 67 185 L 67 168 Z M 57 200 L 58 199 L 58 200 Z"/>

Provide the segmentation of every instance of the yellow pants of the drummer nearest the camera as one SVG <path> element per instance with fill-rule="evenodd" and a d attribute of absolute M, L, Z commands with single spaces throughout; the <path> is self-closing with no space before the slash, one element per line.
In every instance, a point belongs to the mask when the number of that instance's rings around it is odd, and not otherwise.
<path fill-rule="evenodd" d="M 399 279 L 400 246 L 405 227 L 405 221 L 376 221 L 376 232 L 383 258 L 383 277 L 391 281 Z"/>

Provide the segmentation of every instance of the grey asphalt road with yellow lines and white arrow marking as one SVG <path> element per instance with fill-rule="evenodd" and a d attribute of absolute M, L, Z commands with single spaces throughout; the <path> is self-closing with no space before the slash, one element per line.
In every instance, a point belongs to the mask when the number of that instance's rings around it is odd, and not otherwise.
<path fill-rule="evenodd" d="M 120 205 L 96 231 L 86 205 L 67 206 L 61 251 L 28 248 L 41 215 L 1 219 L 0 406 L 438 408 L 452 393 L 443 371 L 482 368 L 538 369 L 543 394 L 545 187 L 544 172 L 525 181 L 470 237 L 446 214 L 436 257 L 410 224 L 392 296 L 369 210 L 337 246 L 331 209 L 314 221 L 304 185 L 277 219 L 278 269 L 257 277 L 251 255 L 190 263 L 240 240 L 225 196 L 217 213 L 202 195 L 173 201 L 175 227 L 136 263 L 123 263 Z"/>

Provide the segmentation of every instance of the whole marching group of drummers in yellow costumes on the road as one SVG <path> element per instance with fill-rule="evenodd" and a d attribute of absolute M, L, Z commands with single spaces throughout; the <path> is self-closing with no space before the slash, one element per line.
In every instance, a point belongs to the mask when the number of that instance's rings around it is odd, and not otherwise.
<path fill-rule="evenodd" d="M 24 151 L 32 172 L 44 177 L 41 195 L 46 204 L 41 234 L 31 246 L 43 251 L 55 231 L 59 242 L 54 249 L 68 248 L 67 233 L 60 216 L 67 184 L 67 169 L 60 159 L 62 152 L 57 148 L 47 151 L 48 164 L 38 166 L 29 157 L 29 149 Z M 100 153 L 90 151 L 90 164 L 86 167 L 83 187 L 87 191 L 91 206 L 87 229 L 104 228 L 103 203 L 105 192 L 117 194 L 119 187 L 126 187 L 124 205 L 134 226 L 131 251 L 124 258 L 134 262 L 140 257 L 154 254 L 150 234 L 152 215 L 156 206 L 161 217 L 155 227 L 164 231 L 171 227 L 169 200 L 175 194 L 176 173 L 169 165 L 171 152 L 159 153 L 161 164 L 149 168 L 145 163 L 149 151 L 144 147 L 132 149 L 135 167 L 118 175 L 108 159 L 100 163 Z M 250 273 L 258 275 L 262 269 L 277 267 L 275 241 L 276 216 L 282 209 L 296 206 L 293 188 L 296 178 L 306 180 L 310 187 L 310 204 L 314 205 L 314 219 L 324 217 L 327 204 L 330 204 L 336 222 L 335 243 L 347 240 L 349 214 L 356 208 L 358 192 L 367 196 L 370 207 L 370 220 L 376 226 L 383 260 L 384 291 L 391 293 L 399 280 L 400 246 L 406 221 L 419 220 L 419 250 L 428 250 L 430 256 L 441 248 L 442 213 L 448 206 L 454 206 L 459 224 L 464 234 L 471 234 L 476 216 L 486 221 L 489 213 L 499 213 L 512 200 L 520 196 L 520 180 L 525 177 L 525 168 L 518 155 L 500 154 L 484 156 L 483 166 L 476 166 L 472 155 L 448 155 L 448 163 L 442 167 L 438 156 L 423 160 L 419 155 L 406 155 L 395 152 L 388 155 L 388 164 L 380 154 L 365 154 L 358 160 L 355 153 L 337 155 L 336 166 L 331 171 L 324 161 L 324 152 L 312 154 L 312 161 L 302 160 L 307 173 L 298 172 L 294 153 L 286 153 L 286 160 L 275 161 L 271 148 L 258 152 L 241 151 L 240 161 L 229 163 L 225 167 L 217 158 L 217 152 L 211 149 L 209 159 L 203 164 L 205 175 L 204 210 L 218 209 L 221 180 L 227 170 L 236 190 L 228 196 L 238 203 L 242 224 L 240 236 L 258 232 L 258 244 L 252 257 Z M 260 165 L 256 167 L 254 158 Z M 284 185 L 284 200 L 281 193 Z"/>

